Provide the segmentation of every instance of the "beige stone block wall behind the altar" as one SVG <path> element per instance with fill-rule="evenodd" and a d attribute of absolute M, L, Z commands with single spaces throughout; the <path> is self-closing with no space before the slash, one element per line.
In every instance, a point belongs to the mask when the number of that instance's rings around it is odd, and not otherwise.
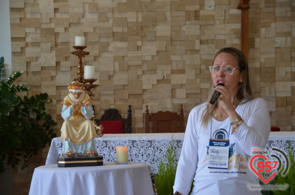
<path fill-rule="evenodd" d="M 18 84 L 48 93 L 58 123 L 67 85 L 77 77 L 75 36 L 86 37 L 84 65 L 95 66 L 94 105 L 99 117 L 116 108 L 126 117 L 132 105 L 132 132 L 143 133 L 150 112 L 191 109 L 207 97 L 208 66 L 223 47 L 240 48 L 238 0 L 10 0 L 12 71 Z M 250 77 L 256 96 L 267 100 L 271 125 L 295 127 L 295 3 L 251 0 Z M 14 194 L 28 194 L 33 168 L 45 164 L 48 148 L 28 169 L 14 170 Z"/>

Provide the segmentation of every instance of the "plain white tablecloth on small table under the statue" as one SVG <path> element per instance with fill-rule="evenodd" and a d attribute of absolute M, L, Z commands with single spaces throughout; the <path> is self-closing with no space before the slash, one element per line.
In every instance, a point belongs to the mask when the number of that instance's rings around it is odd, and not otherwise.
<path fill-rule="evenodd" d="M 153 195 L 151 168 L 129 162 L 103 166 L 57 167 L 57 164 L 34 170 L 29 195 Z"/>

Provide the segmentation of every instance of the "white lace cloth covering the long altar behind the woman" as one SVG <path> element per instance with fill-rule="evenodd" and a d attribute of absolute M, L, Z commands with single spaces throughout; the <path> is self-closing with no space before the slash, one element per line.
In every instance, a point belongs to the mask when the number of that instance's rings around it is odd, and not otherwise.
<path fill-rule="evenodd" d="M 104 162 L 116 161 L 116 146 L 128 146 L 129 160 L 132 162 L 142 162 L 149 164 L 154 173 L 158 173 L 159 162 L 167 162 L 165 154 L 171 144 L 173 136 L 173 147 L 178 162 L 184 133 L 157 133 L 157 134 L 106 134 L 100 138 L 95 138 L 96 149 L 99 155 L 103 156 Z M 53 138 L 48 152 L 45 165 L 57 164 L 57 159 L 62 155 L 62 140 L 60 137 Z M 265 150 L 268 154 L 264 156 L 271 161 L 277 159 L 271 154 L 279 156 L 282 164 L 285 165 L 285 158 L 271 148 L 277 148 L 288 154 L 290 147 L 293 154 L 295 152 L 295 131 L 290 132 L 270 132 Z"/>

